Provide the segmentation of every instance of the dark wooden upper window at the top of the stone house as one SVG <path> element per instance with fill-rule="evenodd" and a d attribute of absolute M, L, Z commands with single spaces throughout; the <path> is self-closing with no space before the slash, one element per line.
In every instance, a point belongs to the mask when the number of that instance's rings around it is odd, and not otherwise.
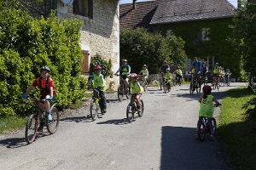
<path fill-rule="evenodd" d="M 93 18 L 93 0 L 74 0 L 73 14 Z"/>

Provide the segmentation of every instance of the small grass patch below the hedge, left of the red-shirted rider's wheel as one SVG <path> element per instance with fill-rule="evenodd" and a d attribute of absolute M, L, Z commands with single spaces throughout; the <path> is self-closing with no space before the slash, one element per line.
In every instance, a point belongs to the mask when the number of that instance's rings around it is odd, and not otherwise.
<path fill-rule="evenodd" d="M 27 117 L 4 116 L 0 117 L 0 133 L 9 133 L 26 126 Z"/>

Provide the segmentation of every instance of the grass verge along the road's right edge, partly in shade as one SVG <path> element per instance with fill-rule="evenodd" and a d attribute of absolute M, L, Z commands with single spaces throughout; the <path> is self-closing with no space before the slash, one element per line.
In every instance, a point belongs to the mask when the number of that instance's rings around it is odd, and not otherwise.
<path fill-rule="evenodd" d="M 256 95 L 247 88 L 230 89 L 228 97 L 222 100 L 218 133 L 224 140 L 237 169 L 254 169 L 256 167 L 256 119 L 255 105 L 247 109 L 242 106 Z M 248 111 L 253 115 L 248 115 Z"/>

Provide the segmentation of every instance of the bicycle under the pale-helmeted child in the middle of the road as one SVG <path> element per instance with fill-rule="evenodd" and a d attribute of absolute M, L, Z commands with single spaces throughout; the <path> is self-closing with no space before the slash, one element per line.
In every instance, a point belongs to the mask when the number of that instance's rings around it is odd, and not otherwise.
<path fill-rule="evenodd" d="M 135 118 L 135 113 L 137 112 L 137 115 L 139 117 L 143 116 L 144 113 L 144 103 L 143 99 L 139 99 L 140 105 L 141 105 L 141 111 L 138 111 L 137 109 L 137 103 L 135 101 L 135 97 L 137 94 L 131 94 L 131 102 L 126 107 L 126 118 L 128 122 L 133 122 Z"/>

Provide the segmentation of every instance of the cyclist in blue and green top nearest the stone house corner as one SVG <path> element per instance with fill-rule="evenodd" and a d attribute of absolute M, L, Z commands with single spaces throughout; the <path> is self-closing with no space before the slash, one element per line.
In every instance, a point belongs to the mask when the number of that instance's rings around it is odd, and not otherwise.
<path fill-rule="evenodd" d="M 131 75 L 131 66 L 127 64 L 127 59 L 123 59 L 123 65 L 119 67 L 119 70 L 116 71 L 114 75 L 117 75 L 118 72 L 120 72 L 122 79 L 125 81 L 125 92 L 127 92 L 129 88 L 129 77 Z M 125 92 L 123 92 L 123 94 L 125 94 Z"/>

